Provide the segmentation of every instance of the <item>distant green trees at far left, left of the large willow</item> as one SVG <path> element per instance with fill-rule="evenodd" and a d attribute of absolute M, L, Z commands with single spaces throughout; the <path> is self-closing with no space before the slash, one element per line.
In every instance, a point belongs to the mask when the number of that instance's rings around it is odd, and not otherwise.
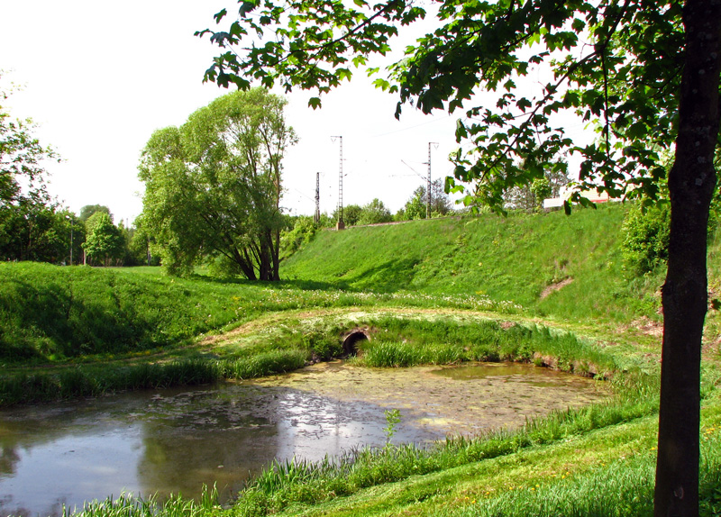
<path fill-rule="evenodd" d="M 0 88 L 0 260 L 146 263 L 141 233 L 114 225 L 106 206 L 85 206 L 78 216 L 48 194 L 43 164 L 58 156 L 34 137 L 32 120 L 15 119 L 5 109 L 10 93 Z"/>

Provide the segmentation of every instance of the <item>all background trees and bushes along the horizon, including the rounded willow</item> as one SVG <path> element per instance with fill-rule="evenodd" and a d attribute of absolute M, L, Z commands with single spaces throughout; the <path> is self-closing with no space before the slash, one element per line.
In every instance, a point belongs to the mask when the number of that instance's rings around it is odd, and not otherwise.
<path fill-rule="evenodd" d="M 0 92 L 0 99 L 7 94 Z M 114 222 L 107 206 L 79 214 L 52 199 L 42 163 L 57 159 L 32 136 L 32 121 L 14 120 L 0 105 L 0 259 L 89 266 L 162 265 L 183 275 L 205 265 L 211 274 L 277 280 L 280 260 L 331 228 L 338 209 L 319 222 L 280 207 L 281 160 L 297 137 L 286 101 L 262 88 L 224 95 L 180 127 L 151 135 L 141 155 L 143 212 Z M 557 183 L 555 178 L 550 178 Z M 443 180 L 418 186 L 397 213 L 378 198 L 343 207 L 346 227 L 443 217 L 452 212 Z M 512 208 L 527 208 L 508 194 Z M 534 201 L 533 204 L 537 204 Z"/>

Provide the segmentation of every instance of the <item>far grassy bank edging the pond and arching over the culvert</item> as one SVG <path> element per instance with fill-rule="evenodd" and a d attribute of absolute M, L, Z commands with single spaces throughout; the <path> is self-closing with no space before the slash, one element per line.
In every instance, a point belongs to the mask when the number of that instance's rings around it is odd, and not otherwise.
<path fill-rule="evenodd" d="M 233 337 L 211 337 L 162 352 L 86 358 L 82 363 L 51 367 L 6 367 L 0 375 L 0 407 L 292 371 L 310 362 L 341 357 L 342 337 L 359 327 L 370 329 L 370 341 L 360 347 L 360 357 L 355 359 L 358 366 L 516 361 L 599 378 L 620 369 L 613 355 L 567 331 L 550 331 L 528 322 L 499 323 L 452 309 L 447 313 L 412 311 L 272 313 Z"/>

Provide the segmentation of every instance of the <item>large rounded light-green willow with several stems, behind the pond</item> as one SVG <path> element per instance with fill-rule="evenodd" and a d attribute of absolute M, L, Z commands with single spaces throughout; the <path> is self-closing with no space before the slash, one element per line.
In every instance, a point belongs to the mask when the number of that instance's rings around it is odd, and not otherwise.
<path fill-rule="evenodd" d="M 278 280 L 282 159 L 296 141 L 285 104 L 263 88 L 235 92 L 152 134 L 142 218 L 171 274 L 210 261 Z"/>

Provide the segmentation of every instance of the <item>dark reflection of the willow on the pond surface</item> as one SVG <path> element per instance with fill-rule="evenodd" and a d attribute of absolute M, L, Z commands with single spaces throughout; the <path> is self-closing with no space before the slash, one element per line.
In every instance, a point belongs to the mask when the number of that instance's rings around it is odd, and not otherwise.
<path fill-rule="evenodd" d="M 203 484 L 215 484 L 222 497 L 232 496 L 277 455 L 277 399 L 238 388 L 152 404 L 157 413 L 143 422 L 138 463 L 144 493 L 196 496 Z"/>

